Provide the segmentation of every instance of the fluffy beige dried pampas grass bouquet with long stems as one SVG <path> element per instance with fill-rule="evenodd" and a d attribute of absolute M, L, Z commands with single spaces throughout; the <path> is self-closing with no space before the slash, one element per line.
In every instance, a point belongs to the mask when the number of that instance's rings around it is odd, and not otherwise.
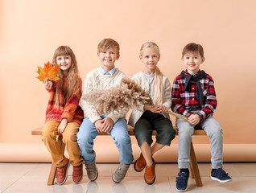
<path fill-rule="evenodd" d="M 154 106 L 151 96 L 141 88 L 134 80 L 122 79 L 121 84 L 108 90 L 93 89 L 86 93 L 83 100 L 88 101 L 96 107 L 98 115 L 122 112 L 124 110 L 134 109 L 140 105 Z M 175 117 L 188 120 L 178 113 L 167 111 Z"/>

